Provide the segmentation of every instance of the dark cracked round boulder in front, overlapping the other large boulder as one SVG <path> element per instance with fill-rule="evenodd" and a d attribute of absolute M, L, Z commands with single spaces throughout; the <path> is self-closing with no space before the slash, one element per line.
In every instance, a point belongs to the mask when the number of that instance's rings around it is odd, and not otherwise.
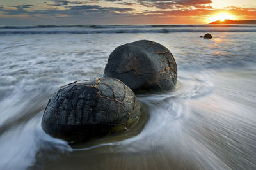
<path fill-rule="evenodd" d="M 65 85 L 50 99 L 42 129 L 68 142 L 120 132 L 137 122 L 140 103 L 134 92 L 115 78 L 79 80 Z"/>

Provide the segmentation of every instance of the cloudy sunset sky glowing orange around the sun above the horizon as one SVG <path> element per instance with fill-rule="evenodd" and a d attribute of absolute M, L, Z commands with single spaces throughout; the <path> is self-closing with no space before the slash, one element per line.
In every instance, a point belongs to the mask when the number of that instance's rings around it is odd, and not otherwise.
<path fill-rule="evenodd" d="M 256 0 L 1 0 L 0 25 L 208 24 L 256 20 Z"/>

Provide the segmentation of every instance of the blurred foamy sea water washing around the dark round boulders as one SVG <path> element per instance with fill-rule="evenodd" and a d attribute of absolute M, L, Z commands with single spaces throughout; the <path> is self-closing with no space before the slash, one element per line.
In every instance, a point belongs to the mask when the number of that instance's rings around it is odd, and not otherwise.
<path fill-rule="evenodd" d="M 214 38 L 203 39 L 206 32 Z M 255 25 L 0 27 L 0 169 L 256 169 Z M 119 45 L 166 46 L 177 88 L 137 96 L 129 131 L 68 145 L 42 131 L 62 85 L 102 76 Z"/>

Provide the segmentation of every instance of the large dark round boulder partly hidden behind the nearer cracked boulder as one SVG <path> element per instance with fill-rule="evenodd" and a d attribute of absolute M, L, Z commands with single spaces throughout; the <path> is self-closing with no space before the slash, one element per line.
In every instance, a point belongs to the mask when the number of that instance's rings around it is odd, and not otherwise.
<path fill-rule="evenodd" d="M 120 79 L 135 93 L 172 90 L 177 82 L 177 64 L 163 45 L 135 41 L 118 46 L 109 55 L 104 77 Z"/>

